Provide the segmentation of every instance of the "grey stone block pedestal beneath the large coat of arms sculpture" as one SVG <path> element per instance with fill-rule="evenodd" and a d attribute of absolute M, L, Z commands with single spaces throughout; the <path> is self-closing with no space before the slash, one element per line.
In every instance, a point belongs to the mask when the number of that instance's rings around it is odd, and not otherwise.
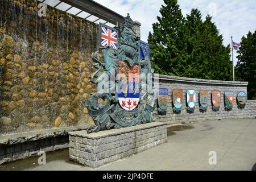
<path fill-rule="evenodd" d="M 92 168 L 127 158 L 167 142 L 167 123 L 154 122 L 128 128 L 69 133 L 69 159 Z"/>

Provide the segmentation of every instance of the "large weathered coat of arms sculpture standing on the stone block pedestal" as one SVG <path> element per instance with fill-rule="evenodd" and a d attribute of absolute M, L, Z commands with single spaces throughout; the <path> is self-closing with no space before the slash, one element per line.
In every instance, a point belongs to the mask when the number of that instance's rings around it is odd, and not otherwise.
<path fill-rule="evenodd" d="M 156 106 L 152 83 L 154 70 L 149 56 L 139 59 L 140 39 L 135 36 L 133 24 L 128 14 L 114 29 L 117 34 L 110 28 L 100 32 L 101 49 L 92 53 L 97 71 L 89 77 L 90 82 L 97 84 L 97 93 L 90 94 L 85 100 L 88 114 L 96 126 L 90 127 L 88 133 L 155 121 L 152 117 Z M 112 37 L 113 40 L 104 44 Z M 115 37 L 117 41 L 114 41 Z M 98 102 L 100 98 L 105 104 Z"/>

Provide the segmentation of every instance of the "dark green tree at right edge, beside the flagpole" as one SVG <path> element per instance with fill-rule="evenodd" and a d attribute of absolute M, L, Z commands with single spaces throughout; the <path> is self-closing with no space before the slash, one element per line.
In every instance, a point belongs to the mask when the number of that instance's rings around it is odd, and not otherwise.
<path fill-rule="evenodd" d="M 235 68 L 236 79 L 248 81 L 248 98 L 256 100 L 256 31 L 250 31 L 247 37 L 242 37 L 241 47 L 238 52 L 238 63 Z"/>

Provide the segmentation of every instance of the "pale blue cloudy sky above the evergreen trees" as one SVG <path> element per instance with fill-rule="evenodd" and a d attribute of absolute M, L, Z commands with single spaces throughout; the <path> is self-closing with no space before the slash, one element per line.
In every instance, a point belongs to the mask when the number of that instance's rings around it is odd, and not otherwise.
<path fill-rule="evenodd" d="M 163 0 L 94 0 L 109 9 L 142 23 L 141 39 L 147 42 L 148 33 L 152 32 L 152 23 L 157 22 L 159 10 L 164 5 Z M 178 0 L 183 15 L 191 9 L 198 8 L 203 19 L 207 14 L 213 16 L 220 34 L 224 37 L 224 46 L 233 41 L 240 43 L 242 36 L 256 30 L 256 1 L 255 0 Z M 237 63 L 237 53 L 234 51 L 234 64 Z"/>

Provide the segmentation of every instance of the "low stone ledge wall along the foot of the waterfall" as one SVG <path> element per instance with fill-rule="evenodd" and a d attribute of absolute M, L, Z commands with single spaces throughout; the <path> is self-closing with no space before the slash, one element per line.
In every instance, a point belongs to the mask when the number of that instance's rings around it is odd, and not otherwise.
<path fill-rule="evenodd" d="M 85 130 L 89 126 L 90 125 L 3 135 L 0 137 L 0 165 L 14 160 L 36 156 L 39 151 L 51 152 L 68 148 L 68 132 Z"/>

